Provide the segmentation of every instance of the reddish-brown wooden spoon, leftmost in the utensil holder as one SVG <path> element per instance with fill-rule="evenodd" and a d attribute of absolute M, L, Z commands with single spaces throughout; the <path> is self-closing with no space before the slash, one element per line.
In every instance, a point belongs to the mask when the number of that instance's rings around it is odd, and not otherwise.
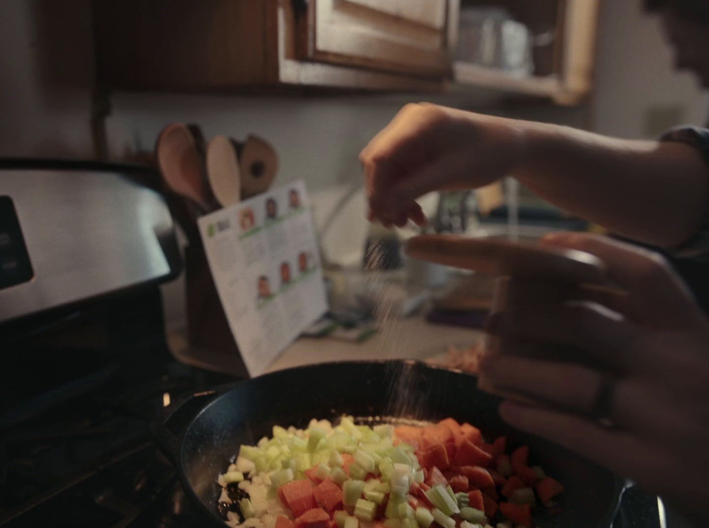
<path fill-rule="evenodd" d="M 195 138 L 184 123 L 162 129 L 156 143 L 157 163 L 169 189 L 199 208 L 199 214 L 213 209 L 213 196 L 204 175 L 203 158 Z"/>

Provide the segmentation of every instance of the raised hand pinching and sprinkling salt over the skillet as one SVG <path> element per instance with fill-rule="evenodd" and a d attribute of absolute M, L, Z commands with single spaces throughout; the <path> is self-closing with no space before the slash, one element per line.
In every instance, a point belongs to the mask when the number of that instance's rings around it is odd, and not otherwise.
<path fill-rule="evenodd" d="M 362 150 L 369 219 L 422 225 L 415 199 L 442 189 L 472 189 L 498 180 L 520 163 L 524 122 L 407 104 Z"/>

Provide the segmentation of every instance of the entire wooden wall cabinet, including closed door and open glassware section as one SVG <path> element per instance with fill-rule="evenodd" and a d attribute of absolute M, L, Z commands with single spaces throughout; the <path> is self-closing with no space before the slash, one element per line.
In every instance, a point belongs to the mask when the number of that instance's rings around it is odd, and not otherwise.
<path fill-rule="evenodd" d="M 272 92 L 294 87 L 501 92 L 581 101 L 600 0 L 94 0 L 101 83 L 115 89 Z M 462 4 L 462 5 L 461 5 Z M 534 75 L 454 61 L 460 9 L 501 6 L 552 24 Z"/>

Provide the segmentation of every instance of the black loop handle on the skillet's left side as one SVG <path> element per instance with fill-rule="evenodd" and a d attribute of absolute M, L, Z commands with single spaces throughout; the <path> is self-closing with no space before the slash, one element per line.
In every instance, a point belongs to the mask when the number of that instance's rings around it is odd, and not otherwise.
<path fill-rule="evenodd" d="M 231 387 L 233 387 L 233 385 L 179 396 L 171 405 L 164 407 L 159 416 L 150 423 L 150 434 L 152 434 L 157 445 L 172 463 L 177 463 L 179 460 L 180 450 L 182 449 L 182 439 L 184 439 L 186 427 L 182 430 L 174 431 L 173 428 L 168 426 L 168 423 L 173 419 L 175 421 L 180 419 L 182 424 L 188 424 L 191 422 L 191 419 L 196 416 L 194 407 L 188 404 L 195 400 L 200 400 L 201 405 L 199 408 L 202 409 L 209 401 L 223 394 Z M 191 414 L 189 413 L 189 409 L 193 410 Z"/>

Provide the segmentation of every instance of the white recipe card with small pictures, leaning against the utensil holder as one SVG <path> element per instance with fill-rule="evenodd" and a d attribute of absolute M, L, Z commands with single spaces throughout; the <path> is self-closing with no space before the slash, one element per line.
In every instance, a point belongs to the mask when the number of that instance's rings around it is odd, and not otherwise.
<path fill-rule="evenodd" d="M 302 181 L 199 219 L 231 332 L 254 377 L 328 309 Z"/>

